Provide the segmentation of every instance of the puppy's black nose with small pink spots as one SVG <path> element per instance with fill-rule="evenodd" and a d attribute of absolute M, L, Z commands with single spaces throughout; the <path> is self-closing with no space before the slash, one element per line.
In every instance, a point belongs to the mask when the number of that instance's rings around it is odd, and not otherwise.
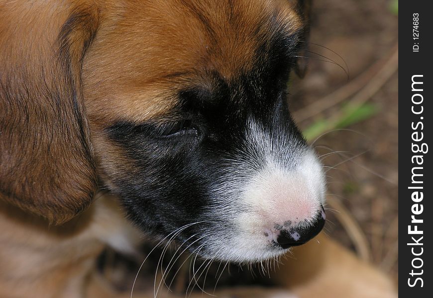
<path fill-rule="evenodd" d="M 293 227 L 280 230 L 277 237 L 277 244 L 282 248 L 298 246 L 314 238 L 325 225 L 325 210 L 322 210 L 314 217 L 310 223 L 297 224 Z"/>

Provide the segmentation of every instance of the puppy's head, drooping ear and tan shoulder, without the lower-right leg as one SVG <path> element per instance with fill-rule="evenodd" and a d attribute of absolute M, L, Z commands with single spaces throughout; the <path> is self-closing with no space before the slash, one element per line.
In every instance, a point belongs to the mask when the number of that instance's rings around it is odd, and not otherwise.
<path fill-rule="evenodd" d="M 324 173 L 287 105 L 309 7 L 1 1 L 0 296 L 108 297 L 94 260 L 138 233 L 239 263 L 316 236 Z"/>

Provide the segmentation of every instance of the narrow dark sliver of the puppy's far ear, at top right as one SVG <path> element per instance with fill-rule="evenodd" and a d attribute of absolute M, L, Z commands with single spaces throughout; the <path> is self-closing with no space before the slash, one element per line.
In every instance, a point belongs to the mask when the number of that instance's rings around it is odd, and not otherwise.
<path fill-rule="evenodd" d="M 301 49 L 299 56 L 307 57 L 308 39 L 310 37 L 310 21 L 311 21 L 311 4 L 313 0 L 296 0 L 296 10 L 298 14 L 301 16 L 304 22 L 304 36 L 303 40 L 305 41 L 303 48 Z M 307 58 L 299 57 L 296 60 L 295 73 L 303 78 L 307 73 Z"/>

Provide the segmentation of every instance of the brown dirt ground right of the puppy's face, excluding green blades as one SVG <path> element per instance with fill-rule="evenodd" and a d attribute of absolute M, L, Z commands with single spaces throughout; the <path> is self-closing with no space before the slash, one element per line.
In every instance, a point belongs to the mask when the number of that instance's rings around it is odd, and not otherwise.
<path fill-rule="evenodd" d="M 308 59 L 304 79 L 294 79 L 290 103 L 301 129 L 317 119 L 332 117 L 355 96 L 377 107 L 376 115 L 347 127 L 350 131 L 327 133 L 314 145 L 320 154 L 330 152 L 321 145 L 347 151 L 326 156 L 323 161 L 327 166 L 338 164 L 327 172 L 328 199 L 334 203 L 328 208 L 338 209 L 327 212 L 327 233 L 397 281 L 398 60 L 386 62 L 398 50 L 398 16 L 391 13 L 389 5 L 389 0 L 315 0 L 310 41 L 341 56 L 349 78 L 340 67 L 314 60 L 325 58 L 308 53 L 306 56 L 314 59 Z M 331 51 L 313 44 L 310 50 L 344 67 L 341 58 Z M 387 71 L 385 78 L 376 75 Z M 367 79 L 357 82 L 362 75 Z M 349 84 L 361 91 L 353 95 L 337 93 Z M 342 100 L 323 111 L 306 110 L 331 93 Z M 335 97 L 330 96 L 331 100 Z M 354 158 L 344 162 L 351 156 Z M 342 216 L 351 217 L 343 224 L 338 219 L 338 215 L 342 217 L 340 204 L 348 211 Z"/>

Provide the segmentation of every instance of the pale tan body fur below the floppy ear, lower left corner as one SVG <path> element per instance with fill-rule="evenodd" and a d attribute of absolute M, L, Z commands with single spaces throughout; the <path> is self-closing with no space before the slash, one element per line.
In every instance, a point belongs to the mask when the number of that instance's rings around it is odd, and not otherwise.
<path fill-rule="evenodd" d="M 0 227 L 1 298 L 84 297 L 109 239 L 139 239 L 115 200 L 101 196 L 61 226 L 0 202 Z"/>

